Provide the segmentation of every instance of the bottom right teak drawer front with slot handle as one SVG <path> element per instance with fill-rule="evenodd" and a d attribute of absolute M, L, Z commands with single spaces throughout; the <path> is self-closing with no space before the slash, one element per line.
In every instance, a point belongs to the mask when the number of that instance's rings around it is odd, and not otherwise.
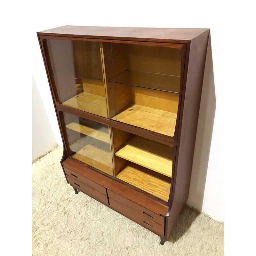
<path fill-rule="evenodd" d="M 124 205 L 117 203 L 116 201 L 108 198 L 109 205 L 113 207 L 117 212 L 120 212 L 125 217 L 137 222 L 144 228 L 156 233 L 158 236 L 164 236 L 164 227 L 159 226 L 152 220 L 148 220 L 148 218 L 144 218 L 143 215 L 138 214 L 137 212 L 133 212 L 131 209 L 126 208 Z"/>

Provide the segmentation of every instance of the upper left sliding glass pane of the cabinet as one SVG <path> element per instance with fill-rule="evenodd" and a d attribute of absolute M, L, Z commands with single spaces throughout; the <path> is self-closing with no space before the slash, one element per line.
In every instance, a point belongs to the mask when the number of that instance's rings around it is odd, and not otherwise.
<path fill-rule="evenodd" d="M 45 39 L 48 67 L 57 100 L 63 105 L 107 117 L 101 43 Z"/>

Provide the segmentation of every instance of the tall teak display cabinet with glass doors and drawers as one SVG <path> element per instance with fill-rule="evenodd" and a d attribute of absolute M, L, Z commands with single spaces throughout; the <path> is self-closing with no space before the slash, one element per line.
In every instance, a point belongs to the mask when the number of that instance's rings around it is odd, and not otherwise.
<path fill-rule="evenodd" d="M 38 32 L 67 182 L 169 237 L 187 199 L 209 29 Z"/>

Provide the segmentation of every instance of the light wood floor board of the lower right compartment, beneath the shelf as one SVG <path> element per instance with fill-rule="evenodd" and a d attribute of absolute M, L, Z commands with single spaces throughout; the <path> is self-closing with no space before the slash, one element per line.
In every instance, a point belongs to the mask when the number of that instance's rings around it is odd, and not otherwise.
<path fill-rule="evenodd" d="M 153 196 L 168 201 L 171 188 L 171 178 L 152 172 L 140 165 L 129 163 L 116 175 L 136 188 L 140 188 Z"/>

